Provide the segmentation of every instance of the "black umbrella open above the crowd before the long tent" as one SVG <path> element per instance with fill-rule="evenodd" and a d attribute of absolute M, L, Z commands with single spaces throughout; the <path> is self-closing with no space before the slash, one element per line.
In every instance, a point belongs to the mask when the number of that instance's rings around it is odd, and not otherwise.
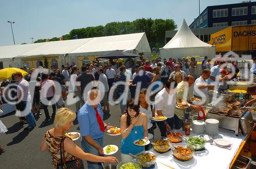
<path fill-rule="evenodd" d="M 98 58 L 104 58 L 104 59 L 119 59 L 119 58 L 136 58 L 136 57 L 140 57 L 139 55 L 136 54 L 132 54 L 129 52 L 123 52 L 123 51 L 113 51 L 111 53 L 105 54 L 101 57 Z"/>

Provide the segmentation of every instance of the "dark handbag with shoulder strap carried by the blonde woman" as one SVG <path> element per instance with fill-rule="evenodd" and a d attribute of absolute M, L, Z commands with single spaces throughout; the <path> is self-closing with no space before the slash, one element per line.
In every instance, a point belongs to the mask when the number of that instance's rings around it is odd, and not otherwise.
<path fill-rule="evenodd" d="M 83 161 L 77 157 L 74 160 L 66 161 L 65 159 L 65 149 L 64 149 L 64 140 L 67 137 L 63 137 L 60 141 L 60 163 L 57 165 L 59 169 L 81 169 L 84 168 Z M 63 142 L 63 143 L 62 143 Z"/>

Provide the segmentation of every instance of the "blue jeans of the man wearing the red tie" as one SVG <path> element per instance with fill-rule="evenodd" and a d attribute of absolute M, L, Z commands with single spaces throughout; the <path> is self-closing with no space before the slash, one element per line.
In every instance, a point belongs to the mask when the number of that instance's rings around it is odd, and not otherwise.
<path fill-rule="evenodd" d="M 99 139 L 94 139 L 94 141 L 99 144 L 100 147 L 103 148 L 104 145 L 104 141 L 103 141 L 103 137 L 99 138 Z M 84 138 L 82 138 L 81 140 L 81 146 L 84 152 L 86 153 L 91 153 L 94 154 L 96 156 L 99 156 L 99 152 L 97 149 L 95 149 L 95 147 L 93 147 L 91 144 L 89 144 Z M 101 162 L 91 162 L 91 161 L 87 161 L 87 166 L 88 168 L 92 168 L 92 169 L 102 169 L 102 165 Z"/>

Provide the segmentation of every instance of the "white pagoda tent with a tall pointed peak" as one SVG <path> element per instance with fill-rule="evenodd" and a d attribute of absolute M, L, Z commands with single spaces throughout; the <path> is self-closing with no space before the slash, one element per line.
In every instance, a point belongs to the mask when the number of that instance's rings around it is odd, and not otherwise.
<path fill-rule="evenodd" d="M 201 41 L 194 35 L 187 26 L 185 19 L 180 30 L 162 48 L 160 48 L 161 58 L 183 58 L 192 55 L 208 58 L 215 57 L 215 46 Z"/>

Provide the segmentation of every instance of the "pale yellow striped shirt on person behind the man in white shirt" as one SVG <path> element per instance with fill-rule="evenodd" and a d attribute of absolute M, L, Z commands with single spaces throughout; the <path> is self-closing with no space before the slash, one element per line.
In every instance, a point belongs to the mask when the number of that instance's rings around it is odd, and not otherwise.
<path fill-rule="evenodd" d="M 179 101 L 180 99 L 183 99 L 183 101 L 186 102 L 187 101 L 187 95 L 188 95 L 188 86 L 185 86 L 184 81 L 182 81 L 177 86 L 176 101 Z M 175 107 L 175 114 L 180 119 L 183 119 L 183 117 L 184 117 L 183 109 L 178 109 L 178 108 Z"/>

